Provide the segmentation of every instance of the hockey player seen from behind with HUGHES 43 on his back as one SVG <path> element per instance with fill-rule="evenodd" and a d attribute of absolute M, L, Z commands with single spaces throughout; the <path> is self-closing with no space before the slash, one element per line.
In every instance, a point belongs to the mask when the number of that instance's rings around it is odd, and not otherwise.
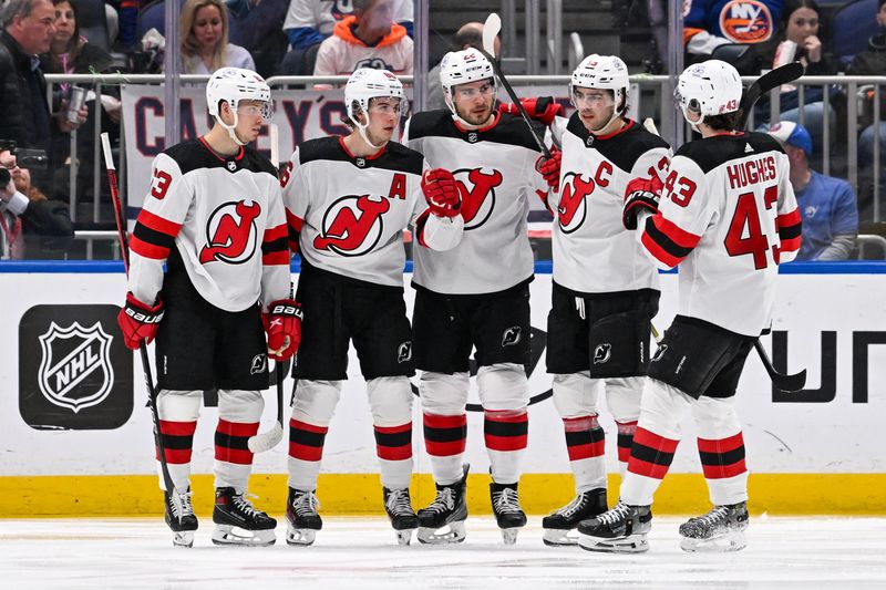
<path fill-rule="evenodd" d="M 713 509 L 680 526 L 687 551 L 745 546 L 748 469 L 734 408 L 754 340 L 769 328 L 779 265 L 800 248 L 801 220 L 781 146 L 736 130 L 739 73 L 711 60 L 688 68 L 676 96 L 702 138 L 678 149 L 660 195 L 628 195 L 625 225 L 660 268 L 680 265 L 679 310 L 649 365 L 619 504 L 583 521 L 579 545 L 646 551 L 652 496 L 691 413 Z"/>

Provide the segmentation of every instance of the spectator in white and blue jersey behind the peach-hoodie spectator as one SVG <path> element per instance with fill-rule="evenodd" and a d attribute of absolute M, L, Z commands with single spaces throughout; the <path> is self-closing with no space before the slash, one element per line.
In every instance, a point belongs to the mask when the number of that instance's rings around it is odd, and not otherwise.
<path fill-rule="evenodd" d="M 280 66 L 280 73 L 309 74 L 313 71 L 317 50 L 336 24 L 357 10 L 358 2 L 337 0 L 289 0 L 284 32 L 292 48 Z M 412 37 L 412 0 L 393 0 L 393 20 Z"/>

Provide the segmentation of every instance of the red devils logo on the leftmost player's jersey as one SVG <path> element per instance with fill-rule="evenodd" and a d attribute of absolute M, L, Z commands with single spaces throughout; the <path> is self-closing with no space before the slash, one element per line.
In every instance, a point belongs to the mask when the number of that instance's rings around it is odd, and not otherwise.
<path fill-rule="evenodd" d="M 220 260 L 241 265 L 256 251 L 258 219 L 261 206 L 254 201 L 229 201 L 209 216 L 206 222 L 206 246 L 200 250 L 200 263 Z"/>

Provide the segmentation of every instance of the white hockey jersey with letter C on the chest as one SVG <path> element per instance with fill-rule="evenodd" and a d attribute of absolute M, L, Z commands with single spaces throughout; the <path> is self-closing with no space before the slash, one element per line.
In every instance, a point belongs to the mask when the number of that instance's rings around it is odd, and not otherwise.
<path fill-rule="evenodd" d="M 635 178 L 658 175 L 671 157 L 668 144 L 637 122 L 610 135 L 588 133 L 574 113 L 563 133 L 555 216 L 554 281 L 581 293 L 658 289 L 658 271 L 621 220 L 625 190 Z"/>

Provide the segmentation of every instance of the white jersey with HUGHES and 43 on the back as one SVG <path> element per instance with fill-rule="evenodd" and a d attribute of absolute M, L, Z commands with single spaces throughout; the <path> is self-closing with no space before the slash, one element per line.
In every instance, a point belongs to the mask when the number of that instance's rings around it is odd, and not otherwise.
<path fill-rule="evenodd" d="M 680 265 L 679 314 L 760 335 L 779 263 L 800 250 L 787 156 L 762 133 L 690 142 L 671 161 L 659 213 L 641 227 L 659 266 Z"/>

